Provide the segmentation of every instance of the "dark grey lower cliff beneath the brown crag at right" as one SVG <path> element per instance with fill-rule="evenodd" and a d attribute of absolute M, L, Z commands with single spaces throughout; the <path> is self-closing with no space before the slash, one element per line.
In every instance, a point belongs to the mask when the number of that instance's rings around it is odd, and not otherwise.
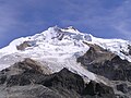
<path fill-rule="evenodd" d="M 103 63 L 87 64 L 87 70 L 98 75 L 105 76 L 111 81 L 129 81 L 131 82 L 131 63 L 121 60 L 118 56 L 110 61 Z"/>

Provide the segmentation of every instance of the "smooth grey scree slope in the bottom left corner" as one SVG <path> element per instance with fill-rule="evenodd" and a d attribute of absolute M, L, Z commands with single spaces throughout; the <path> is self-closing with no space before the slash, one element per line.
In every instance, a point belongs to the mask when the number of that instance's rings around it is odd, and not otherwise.
<path fill-rule="evenodd" d="M 66 98 L 43 86 L 26 85 L 0 88 L 0 98 Z"/>

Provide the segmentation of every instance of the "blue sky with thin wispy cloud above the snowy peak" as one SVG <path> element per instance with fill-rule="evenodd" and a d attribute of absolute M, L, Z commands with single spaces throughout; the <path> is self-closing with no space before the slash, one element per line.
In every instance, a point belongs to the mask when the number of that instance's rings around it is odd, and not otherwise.
<path fill-rule="evenodd" d="M 131 40 L 131 0 L 0 0 L 0 48 L 55 25 Z"/>

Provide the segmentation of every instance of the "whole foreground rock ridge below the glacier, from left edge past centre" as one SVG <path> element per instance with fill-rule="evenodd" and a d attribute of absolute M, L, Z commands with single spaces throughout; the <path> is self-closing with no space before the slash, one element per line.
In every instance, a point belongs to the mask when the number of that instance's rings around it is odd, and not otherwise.
<path fill-rule="evenodd" d="M 17 62 L 0 72 L 0 98 L 115 98 L 109 86 L 86 84 L 68 69 L 47 75 L 33 62 Z"/>

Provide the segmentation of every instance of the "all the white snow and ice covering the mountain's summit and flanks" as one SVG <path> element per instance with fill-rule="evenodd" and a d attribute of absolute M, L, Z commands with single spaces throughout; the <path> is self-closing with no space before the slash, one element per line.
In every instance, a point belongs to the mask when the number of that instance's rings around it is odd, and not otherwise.
<path fill-rule="evenodd" d="M 95 74 L 76 63 L 76 58 L 90 49 L 85 42 L 98 45 L 131 62 L 129 53 L 131 42 L 128 40 L 96 38 L 72 26 L 67 28 L 55 26 L 34 36 L 17 38 L 0 49 L 0 70 L 24 58 L 31 58 L 45 64 L 52 73 L 67 68 L 90 79 L 99 81 Z"/>

